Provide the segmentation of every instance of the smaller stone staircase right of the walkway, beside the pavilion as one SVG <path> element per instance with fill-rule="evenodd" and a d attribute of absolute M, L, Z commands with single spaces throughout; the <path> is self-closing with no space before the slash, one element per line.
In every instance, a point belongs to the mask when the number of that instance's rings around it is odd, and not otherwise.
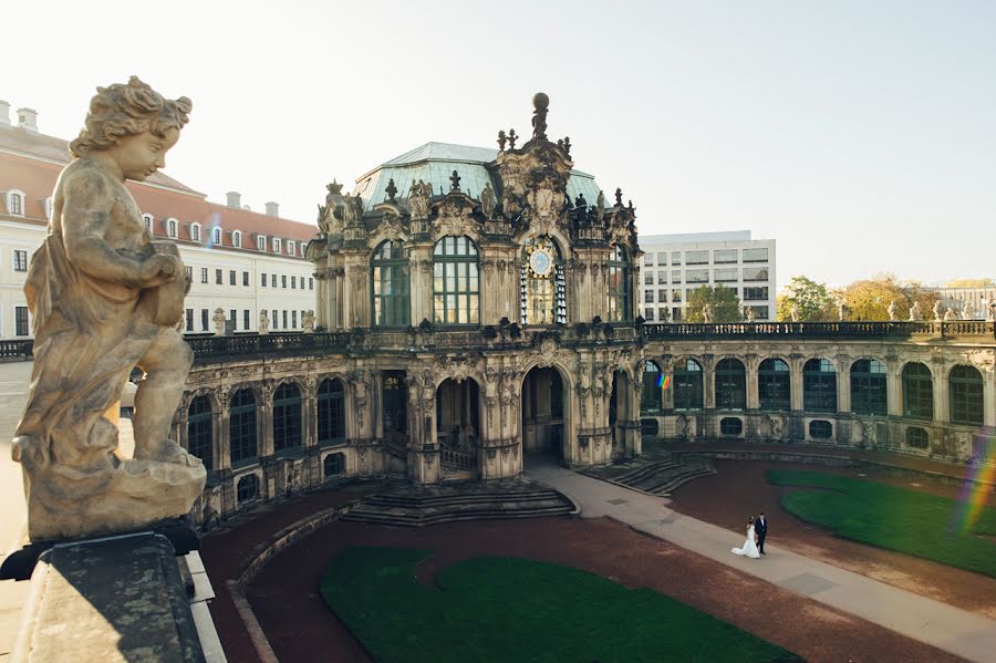
<path fill-rule="evenodd" d="M 656 452 L 635 460 L 583 474 L 651 495 L 670 495 L 692 479 L 716 474 L 708 458 L 696 454 Z"/>

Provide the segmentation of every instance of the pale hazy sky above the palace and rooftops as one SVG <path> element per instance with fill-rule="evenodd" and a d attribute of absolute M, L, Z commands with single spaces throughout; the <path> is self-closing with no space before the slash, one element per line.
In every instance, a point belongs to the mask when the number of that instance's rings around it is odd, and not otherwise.
<path fill-rule="evenodd" d="M 993 277 L 996 2 L 18 2 L 0 99 L 72 137 L 98 84 L 194 100 L 167 173 L 314 219 L 324 184 L 530 127 L 645 234 L 750 229 L 797 273 Z"/>

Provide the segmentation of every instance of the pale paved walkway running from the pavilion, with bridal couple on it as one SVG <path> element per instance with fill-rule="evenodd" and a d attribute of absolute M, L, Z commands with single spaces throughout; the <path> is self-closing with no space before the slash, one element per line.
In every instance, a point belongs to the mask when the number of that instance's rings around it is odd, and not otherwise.
<path fill-rule="evenodd" d="M 581 505 L 585 518 L 608 516 L 635 530 L 719 561 L 782 589 L 826 603 L 896 633 L 969 661 L 988 663 L 996 652 L 996 620 L 806 558 L 765 542 L 759 560 L 730 552 L 744 542 L 733 532 L 667 508 L 668 500 L 553 465 L 527 466 L 526 475 Z"/>

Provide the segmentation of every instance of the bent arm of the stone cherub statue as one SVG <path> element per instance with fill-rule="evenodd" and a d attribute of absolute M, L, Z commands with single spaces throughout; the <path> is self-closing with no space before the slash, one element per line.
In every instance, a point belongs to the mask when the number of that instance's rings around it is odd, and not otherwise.
<path fill-rule="evenodd" d="M 62 235 L 70 261 L 84 273 L 131 288 L 157 284 L 159 262 L 167 256 L 154 256 L 146 262 L 115 251 L 104 239 L 111 226 L 115 197 L 103 177 L 77 173 L 63 185 Z M 149 265 L 155 260 L 155 265 Z M 165 263 L 165 262 L 164 262 Z"/>

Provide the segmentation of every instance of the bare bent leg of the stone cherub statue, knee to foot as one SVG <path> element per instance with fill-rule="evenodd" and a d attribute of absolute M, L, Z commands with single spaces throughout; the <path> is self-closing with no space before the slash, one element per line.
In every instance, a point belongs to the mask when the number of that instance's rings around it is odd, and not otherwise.
<path fill-rule="evenodd" d="M 163 328 L 138 360 L 145 380 L 135 392 L 135 458 L 190 463 L 183 447 L 169 439 L 173 415 L 184 394 L 194 353 L 173 328 Z"/>

